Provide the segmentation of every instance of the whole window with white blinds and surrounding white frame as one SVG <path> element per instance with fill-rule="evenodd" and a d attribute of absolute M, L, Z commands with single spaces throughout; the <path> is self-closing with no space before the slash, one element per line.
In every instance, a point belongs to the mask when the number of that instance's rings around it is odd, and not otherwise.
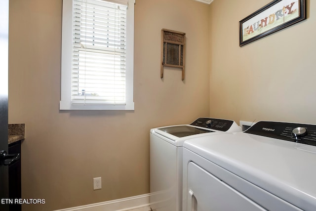
<path fill-rule="evenodd" d="M 134 110 L 135 0 L 63 0 L 60 110 Z"/>

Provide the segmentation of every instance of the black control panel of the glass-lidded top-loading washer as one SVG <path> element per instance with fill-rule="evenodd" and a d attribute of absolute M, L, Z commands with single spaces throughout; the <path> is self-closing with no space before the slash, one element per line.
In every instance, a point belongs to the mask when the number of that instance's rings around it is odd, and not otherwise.
<path fill-rule="evenodd" d="M 221 120 L 212 118 L 198 118 L 196 121 L 191 123 L 192 126 L 205 127 L 209 129 L 216 129 L 221 131 L 227 131 L 233 125 L 232 120 Z"/>

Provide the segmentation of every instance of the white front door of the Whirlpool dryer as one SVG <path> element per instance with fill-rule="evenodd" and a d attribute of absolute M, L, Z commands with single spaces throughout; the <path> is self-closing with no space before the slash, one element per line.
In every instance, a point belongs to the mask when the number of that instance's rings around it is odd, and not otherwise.
<path fill-rule="evenodd" d="M 193 162 L 187 199 L 187 211 L 267 211 Z"/>

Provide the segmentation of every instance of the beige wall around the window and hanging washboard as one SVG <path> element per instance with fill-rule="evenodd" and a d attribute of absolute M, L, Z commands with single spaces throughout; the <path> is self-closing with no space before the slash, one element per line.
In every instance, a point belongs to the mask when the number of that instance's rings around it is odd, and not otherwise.
<path fill-rule="evenodd" d="M 62 0 L 10 0 L 9 123 L 25 123 L 22 198 L 56 210 L 149 193 L 149 130 L 209 116 L 209 5 L 136 0 L 135 111 L 59 111 Z M 160 30 L 185 32 L 186 75 L 165 68 Z M 102 177 L 93 191 L 92 178 Z"/>

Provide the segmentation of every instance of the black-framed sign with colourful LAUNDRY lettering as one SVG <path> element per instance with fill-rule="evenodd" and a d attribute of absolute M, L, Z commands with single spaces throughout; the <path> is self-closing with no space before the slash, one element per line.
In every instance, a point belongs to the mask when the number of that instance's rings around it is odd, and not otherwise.
<path fill-rule="evenodd" d="M 306 0 L 273 0 L 239 21 L 239 46 L 306 19 Z"/>

